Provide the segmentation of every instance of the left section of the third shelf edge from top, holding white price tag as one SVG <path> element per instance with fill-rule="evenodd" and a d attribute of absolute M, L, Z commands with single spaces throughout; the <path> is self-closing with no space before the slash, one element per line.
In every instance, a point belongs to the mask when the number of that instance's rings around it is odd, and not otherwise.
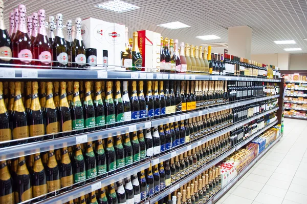
<path fill-rule="evenodd" d="M 70 191 L 60 193 L 56 196 L 47 198 L 46 200 L 42 200 L 42 201 L 35 202 L 35 203 L 40 203 L 40 204 L 59 203 L 59 204 L 61 204 L 61 203 L 69 202 L 70 200 L 76 199 L 76 198 L 80 197 L 81 195 L 89 194 L 93 191 L 101 189 L 101 187 L 105 187 L 107 185 L 110 185 L 111 183 L 118 181 L 118 180 L 124 179 L 124 178 L 131 176 L 133 174 L 136 174 L 136 173 L 138 173 L 142 170 L 148 169 L 149 166 L 150 166 L 150 162 L 146 161 L 146 162 L 143 162 L 142 164 L 139 164 L 137 166 L 130 167 L 130 168 L 126 169 L 125 171 L 121 171 L 121 172 L 109 175 L 107 177 L 98 179 L 94 182 L 87 183 L 84 186 L 77 187 L 77 188 L 72 189 Z"/>

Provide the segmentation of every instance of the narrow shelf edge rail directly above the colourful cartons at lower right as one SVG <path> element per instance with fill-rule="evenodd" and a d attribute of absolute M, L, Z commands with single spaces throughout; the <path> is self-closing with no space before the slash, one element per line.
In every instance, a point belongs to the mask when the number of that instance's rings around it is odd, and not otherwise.
<path fill-rule="evenodd" d="M 274 126 L 275 124 L 277 124 L 277 120 L 275 120 L 273 123 L 271 123 L 270 125 L 267 125 L 265 128 L 257 131 L 256 133 L 254 133 L 253 135 L 251 135 L 248 139 L 244 140 L 243 142 L 241 142 L 240 144 L 238 144 L 237 146 L 232 147 L 231 149 L 229 149 L 227 152 L 225 152 L 224 154 L 220 155 L 219 157 L 217 157 L 216 159 L 212 160 L 211 162 L 209 162 L 208 164 L 203 165 L 199 170 L 196 170 L 193 173 L 190 173 L 188 176 L 185 176 L 184 178 L 172 183 L 169 187 L 167 187 L 167 189 L 162 190 L 158 195 L 154 195 L 151 198 L 149 198 L 149 202 L 150 203 L 155 203 L 158 202 L 160 199 L 164 198 L 165 196 L 167 196 L 168 194 L 172 193 L 173 191 L 175 191 L 176 189 L 179 189 L 181 186 L 185 185 L 187 182 L 189 182 L 191 179 L 193 179 L 194 177 L 200 175 L 201 173 L 203 173 L 206 169 L 209 169 L 210 167 L 218 164 L 219 162 L 221 162 L 224 158 L 226 158 L 227 156 L 229 156 L 230 154 L 232 154 L 234 151 L 238 150 L 239 148 L 243 147 L 244 145 L 246 145 L 249 141 L 251 141 L 253 138 L 255 138 L 256 136 L 258 136 L 259 134 L 265 132 L 267 129 L 271 128 L 272 126 Z M 187 151 L 187 150 L 185 150 Z M 183 152 L 182 152 L 183 153 Z M 181 153 L 178 153 L 181 154 Z M 177 155 L 178 155 L 177 154 Z M 176 156 L 176 155 L 174 155 Z M 153 160 L 152 160 L 153 161 Z M 151 162 L 152 162 L 151 161 Z M 160 161 L 162 162 L 162 161 Z"/>

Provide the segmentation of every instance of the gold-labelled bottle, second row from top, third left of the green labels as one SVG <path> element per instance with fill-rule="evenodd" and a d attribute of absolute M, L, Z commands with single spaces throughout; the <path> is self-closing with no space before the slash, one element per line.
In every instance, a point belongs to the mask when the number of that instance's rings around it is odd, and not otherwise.
<path fill-rule="evenodd" d="M 43 123 L 43 112 L 38 99 L 38 83 L 32 82 L 32 100 L 29 114 L 29 134 L 30 137 L 40 136 L 45 134 L 45 126 Z M 40 141 L 43 137 L 34 138 L 34 141 Z"/>

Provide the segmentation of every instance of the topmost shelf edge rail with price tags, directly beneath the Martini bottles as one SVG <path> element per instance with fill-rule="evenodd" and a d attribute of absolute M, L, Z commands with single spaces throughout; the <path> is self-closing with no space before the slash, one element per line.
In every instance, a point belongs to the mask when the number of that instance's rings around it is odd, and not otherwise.
<path fill-rule="evenodd" d="M 31 68 L 1 68 L 0 78 L 28 79 L 173 79 L 173 80 L 239 80 L 280 82 L 280 79 L 218 76 L 203 74 L 175 74 L 140 71 L 108 71 L 103 69 L 31 69 Z"/>

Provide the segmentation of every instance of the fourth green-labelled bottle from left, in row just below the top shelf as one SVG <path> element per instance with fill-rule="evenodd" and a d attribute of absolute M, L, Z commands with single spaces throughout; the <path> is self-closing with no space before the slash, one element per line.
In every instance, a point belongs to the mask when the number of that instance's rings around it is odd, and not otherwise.
<path fill-rule="evenodd" d="M 107 81 L 106 83 L 106 97 L 105 97 L 105 119 L 106 119 L 106 124 L 109 124 L 107 127 L 113 128 L 115 127 L 116 123 L 116 116 L 115 116 L 115 105 L 113 101 L 113 94 L 112 94 L 112 84 L 111 81 Z"/>

